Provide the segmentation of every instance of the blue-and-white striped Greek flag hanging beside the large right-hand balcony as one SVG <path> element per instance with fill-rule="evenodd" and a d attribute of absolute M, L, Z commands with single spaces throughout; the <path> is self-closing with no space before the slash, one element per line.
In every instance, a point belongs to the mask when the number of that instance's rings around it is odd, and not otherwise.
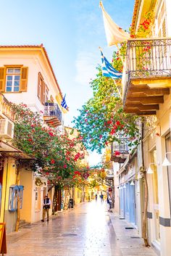
<path fill-rule="evenodd" d="M 104 57 L 104 54 L 101 51 L 101 68 L 102 68 L 102 74 L 104 76 L 107 76 L 107 78 L 113 78 L 118 79 L 122 78 L 122 73 L 118 72 L 117 70 L 112 67 L 112 65 L 108 62 L 107 58 Z"/>

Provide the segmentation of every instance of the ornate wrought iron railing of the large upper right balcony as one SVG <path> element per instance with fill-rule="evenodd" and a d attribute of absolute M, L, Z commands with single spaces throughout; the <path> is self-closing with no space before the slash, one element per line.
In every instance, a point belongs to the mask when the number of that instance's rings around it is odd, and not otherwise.
<path fill-rule="evenodd" d="M 128 79 L 171 76 L 171 38 L 128 40 Z"/>

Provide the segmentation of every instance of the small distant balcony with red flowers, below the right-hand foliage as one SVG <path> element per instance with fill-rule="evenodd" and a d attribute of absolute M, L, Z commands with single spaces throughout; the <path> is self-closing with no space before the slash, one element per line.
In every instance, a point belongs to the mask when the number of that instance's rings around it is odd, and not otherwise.
<path fill-rule="evenodd" d="M 129 154 L 128 138 L 114 141 L 111 145 L 111 161 L 124 163 Z"/>

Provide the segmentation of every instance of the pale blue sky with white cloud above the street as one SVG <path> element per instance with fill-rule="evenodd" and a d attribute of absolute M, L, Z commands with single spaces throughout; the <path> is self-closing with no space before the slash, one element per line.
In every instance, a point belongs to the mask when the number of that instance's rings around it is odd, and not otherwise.
<path fill-rule="evenodd" d="M 0 0 L 0 44 L 41 44 L 46 47 L 59 86 L 70 107 L 65 124 L 91 97 L 89 82 L 101 64 L 99 46 L 107 47 L 99 0 Z M 134 0 L 104 0 L 104 7 L 120 27 L 128 29 Z M 93 154 L 94 156 L 95 154 Z M 94 158 L 94 157 L 93 157 Z M 96 157 L 95 157 L 96 158 Z"/>

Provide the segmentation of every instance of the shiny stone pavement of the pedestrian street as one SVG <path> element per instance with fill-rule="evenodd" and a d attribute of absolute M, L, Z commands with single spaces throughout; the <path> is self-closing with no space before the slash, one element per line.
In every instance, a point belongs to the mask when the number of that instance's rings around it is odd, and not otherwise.
<path fill-rule="evenodd" d="M 7 236 L 8 256 L 157 256 L 130 226 L 107 212 L 106 202 L 87 202 Z"/>

